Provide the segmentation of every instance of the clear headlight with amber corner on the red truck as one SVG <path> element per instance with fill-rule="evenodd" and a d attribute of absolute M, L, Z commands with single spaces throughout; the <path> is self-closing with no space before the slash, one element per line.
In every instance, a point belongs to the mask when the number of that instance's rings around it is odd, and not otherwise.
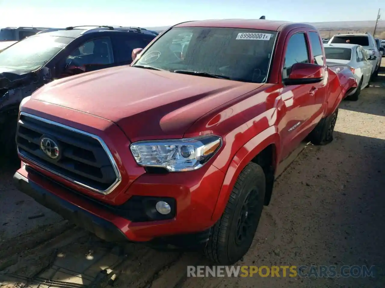
<path fill-rule="evenodd" d="M 130 149 L 137 164 L 147 167 L 163 167 L 170 172 L 199 169 L 222 145 L 219 136 L 161 141 L 139 141 Z"/>

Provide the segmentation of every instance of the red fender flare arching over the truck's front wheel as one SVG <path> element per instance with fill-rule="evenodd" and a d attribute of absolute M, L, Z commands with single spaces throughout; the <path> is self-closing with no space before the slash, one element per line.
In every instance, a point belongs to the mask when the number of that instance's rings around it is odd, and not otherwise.
<path fill-rule="evenodd" d="M 211 216 L 211 219 L 214 220 L 214 222 L 217 222 L 222 216 L 238 175 L 244 167 L 246 167 L 246 165 L 259 154 L 259 152 L 263 151 L 263 149 L 268 147 L 270 144 L 274 144 L 276 146 L 276 153 L 280 151 L 280 135 L 278 134 L 276 126 L 271 126 L 254 136 L 235 153 L 226 171 L 222 188 L 219 192 L 213 215 Z M 275 159 L 275 163 L 273 164 L 274 167 L 276 167 L 278 164 L 278 157 L 275 156 L 273 159 Z"/>

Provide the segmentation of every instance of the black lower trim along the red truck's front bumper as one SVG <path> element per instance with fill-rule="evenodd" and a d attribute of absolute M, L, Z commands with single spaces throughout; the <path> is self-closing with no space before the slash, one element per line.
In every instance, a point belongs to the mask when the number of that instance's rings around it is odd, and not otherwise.
<path fill-rule="evenodd" d="M 52 194 L 20 173 L 16 172 L 13 175 L 13 182 L 18 190 L 32 197 L 36 202 L 53 210 L 64 219 L 94 233 L 97 237 L 109 242 L 130 241 L 113 223 Z M 209 235 L 210 229 L 193 234 L 158 237 L 148 244 L 156 248 L 200 248 L 206 245 Z"/>

